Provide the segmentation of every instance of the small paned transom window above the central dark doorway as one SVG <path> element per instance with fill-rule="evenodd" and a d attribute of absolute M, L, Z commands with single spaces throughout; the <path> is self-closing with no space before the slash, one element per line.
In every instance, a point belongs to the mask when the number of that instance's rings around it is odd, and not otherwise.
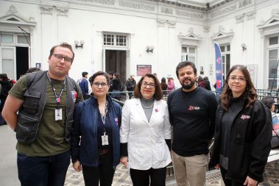
<path fill-rule="evenodd" d="M 127 36 L 121 34 L 103 34 L 103 45 L 107 46 L 127 46 Z"/>

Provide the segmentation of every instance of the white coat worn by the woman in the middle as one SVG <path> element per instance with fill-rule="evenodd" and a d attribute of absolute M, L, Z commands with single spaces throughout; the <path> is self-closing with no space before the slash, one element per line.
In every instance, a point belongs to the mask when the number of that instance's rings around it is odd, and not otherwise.
<path fill-rule="evenodd" d="M 140 99 L 130 99 L 122 109 L 120 143 L 128 143 L 128 162 L 132 169 L 160 169 L 172 159 L 165 139 L 171 138 L 166 101 L 155 101 L 148 122 Z"/>

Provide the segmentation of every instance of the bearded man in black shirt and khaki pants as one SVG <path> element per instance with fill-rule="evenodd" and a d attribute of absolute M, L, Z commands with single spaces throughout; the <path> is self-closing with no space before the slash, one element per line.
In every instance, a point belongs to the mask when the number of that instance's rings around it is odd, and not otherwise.
<path fill-rule="evenodd" d="M 217 100 L 196 84 L 193 62 L 180 62 L 176 76 L 181 88 L 169 94 L 169 122 L 173 125 L 172 164 L 178 186 L 200 186 L 206 181 L 209 141 L 213 138 Z"/>

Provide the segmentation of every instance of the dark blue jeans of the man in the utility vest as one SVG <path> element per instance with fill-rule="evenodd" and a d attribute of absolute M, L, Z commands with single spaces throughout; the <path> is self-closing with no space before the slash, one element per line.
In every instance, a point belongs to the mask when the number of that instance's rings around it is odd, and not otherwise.
<path fill-rule="evenodd" d="M 22 186 L 63 186 L 70 164 L 70 151 L 47 157 L 17 152 L 18 178 Z"/>

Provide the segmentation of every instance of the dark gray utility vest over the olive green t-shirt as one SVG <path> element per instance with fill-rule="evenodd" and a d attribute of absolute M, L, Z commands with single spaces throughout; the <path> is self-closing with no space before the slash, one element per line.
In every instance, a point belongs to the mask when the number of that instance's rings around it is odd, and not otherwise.
<path fill-rule="evenodd" d="M 24 93 L 24 102 L 20 108 L 17 125 L 15 127 L 17 141 L 24 144 L 31 144 L 36 139 L 40 118 L 46 103 L 47 95 L 47 71 L 27 73 L 27 90 Z M 70 131 L 73 124 L 73 112 L 75 108 L 75 95 L 80 87 L 75 80 L 66 76 L 67 99 L 66 99 L 66 132 L 65 139 L 70 142 Z"/>

